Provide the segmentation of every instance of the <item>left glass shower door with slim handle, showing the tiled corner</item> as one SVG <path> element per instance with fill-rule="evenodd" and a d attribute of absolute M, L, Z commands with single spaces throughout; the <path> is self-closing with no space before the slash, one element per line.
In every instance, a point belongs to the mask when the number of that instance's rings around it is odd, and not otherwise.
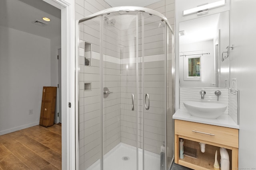
<path fill-rule="evenodd" d="M 137 12 L 113 12 L 102 19 L 103 169 L 136 170 Z"/>

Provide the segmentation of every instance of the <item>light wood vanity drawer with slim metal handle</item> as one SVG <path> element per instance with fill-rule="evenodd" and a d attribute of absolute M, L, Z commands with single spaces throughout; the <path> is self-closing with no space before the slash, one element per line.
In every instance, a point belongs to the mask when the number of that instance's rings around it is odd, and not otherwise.
<path fill-rule="evenodd" d="M 175 120 L 176 135 L 238 148 L 238 129 Z"/>

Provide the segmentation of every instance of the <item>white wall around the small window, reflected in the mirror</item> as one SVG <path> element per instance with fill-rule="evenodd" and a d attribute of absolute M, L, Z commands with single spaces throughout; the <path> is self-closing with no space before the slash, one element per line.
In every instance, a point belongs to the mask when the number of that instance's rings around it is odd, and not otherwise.
<path fill-rule="evenodd" d="M 198 43 L 180 45 L 180 55 L 191 54 L 188 52 L 198 51 L 198 53 L 210 53 L 209 55 L 201 56 L 201 80 L 191 81 L 184 80 L 184 59 L 187 57 L 179 57 L 180 59 L 180 87 L 215 87 L 211 83 L 215 83 L 215 68 L 214 68 L 214 49 L 213 40 L 203 41 Z"/>

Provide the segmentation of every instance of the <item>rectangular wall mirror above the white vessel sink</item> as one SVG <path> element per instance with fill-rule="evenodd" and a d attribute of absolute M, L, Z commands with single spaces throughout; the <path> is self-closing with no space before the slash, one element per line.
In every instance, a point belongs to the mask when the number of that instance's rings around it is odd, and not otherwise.
<path fill-rule="evenodd" d="M 180 87 L 229 88 L 229 12 L 179 23 Z"/>

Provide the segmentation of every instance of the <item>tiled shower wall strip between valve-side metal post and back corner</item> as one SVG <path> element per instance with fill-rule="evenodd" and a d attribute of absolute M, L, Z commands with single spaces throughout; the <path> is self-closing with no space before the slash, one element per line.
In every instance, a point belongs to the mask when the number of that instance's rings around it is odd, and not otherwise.
<path fill-rule="evenodd" d="M 104 99 L 103 113 L 103 154 L 121 141 L 121 105 L 120 105 L 120 15 L 115 13 L 103 16 L 104 19 L 104 77 L 103 86 L 113 92 Z M 112 22 L 113 21 L 113 22 Z"/>

